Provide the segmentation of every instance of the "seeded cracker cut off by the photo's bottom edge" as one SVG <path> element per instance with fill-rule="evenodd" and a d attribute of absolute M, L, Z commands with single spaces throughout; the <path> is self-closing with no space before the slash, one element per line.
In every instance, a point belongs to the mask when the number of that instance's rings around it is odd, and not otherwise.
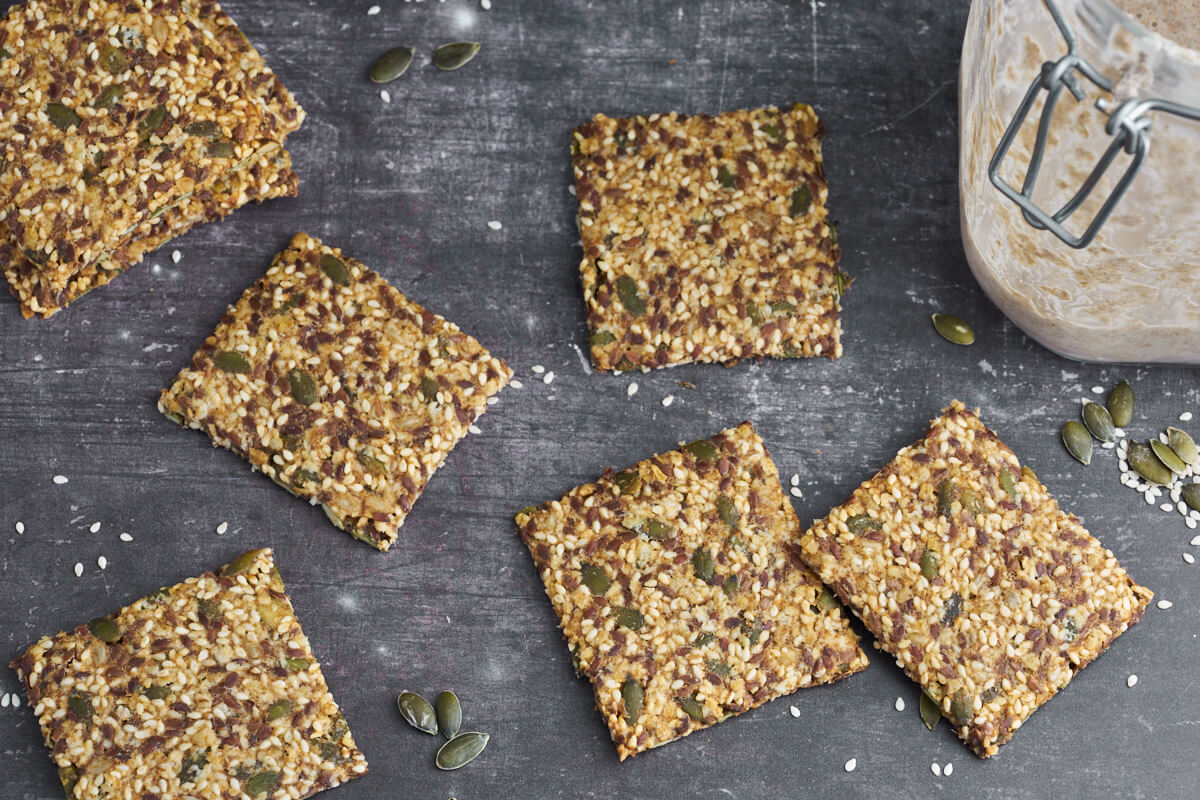
<path fill-rule="evenodd" d="M 11 667 L 72 800 L 306 798 L 367 771 L 269 549 Z"/>

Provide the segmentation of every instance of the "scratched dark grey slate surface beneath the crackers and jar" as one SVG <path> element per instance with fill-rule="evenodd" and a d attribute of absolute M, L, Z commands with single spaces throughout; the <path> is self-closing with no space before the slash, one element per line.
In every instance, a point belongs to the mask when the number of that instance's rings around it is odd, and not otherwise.
<path fill-rule="evenodd" d="M 306 632 L 371 762 L 332 795 L 376 798 L 1178 798 L 1200 777 L 1194 531 L 1057 441 L 1093 385 L 1128 378 L 1130 434 L 1200 413 L 1195 368 L 1080 365 L 1042 349 L 983 296 L 958 233 L 956 65 L 967 4 L 650 0 L 444 4 L 230 0 L 308 121 L 289 142 L 300 197 L 245 209 L 49 321 L 0 300 L 0 655 L 250 547 L 277 551 Z M 427 62 L 442 42 L 484 43 L 467 68 Z M 414 44 L 389 86 L 377 53 Z M 570 128 L 608 114 L 811 102 L 826 120 L 845 301 L 839 362 L 684 367 L 600 377 L 580 348 L 580 249 L 568 192 Z M 486 223 L 497 219 L 502 230 Z M 158 390 L 227 303 L 304 229 L 374 266 L 517 369 L 383 555 L 235 456 L 162 419 Z M 1195 291 L 1194 287 L 1188 288 Z M 932 311 L 972 320 L 978 343 L 937 338 Z M 1152 360 L 1153 354 L 1147 354 Z M 544 365 L 550 385 L 530 373 Z M 628 399 L 636 380 L 641 390 Z M 691 381 L 695 389 L 683 389 Z M 670 408 L 660 401 L 676 397 Z M 1112 650 L 980 762 L 928 733 L 889 660 L 618 765 L 511 513 L 652 451 L 754 420 L 802 521 L 822 516 L 953 397 L 1076 511 L 1141 583 L 1151 609 Z M 1200 431 L 1196 431 L 1200 433 Z M 70 483 L 52 483 L 55 474 Z M 14 523 L 25 534 L 14 533 Z M 217 523 L 228 521 L 223 536 Z M 98 533 L 90 525 L 101 522 Z M 134 536 L 122 543 L 118 534 Z M 107 571 L 96 567 L 104 555 Z M 76 578 L 72 567 L 85 572 Z M 872 651 L 874 652 L 874 651 Z M 1126 688 L 1130 673 L 1140 676 Z M 392 704 L 454 687 L 486 753 L 433 769 L 433 740 Z M 17 691 L 0 672 L 0 693 Z M 893 710 L 896 697 L 908 710 Z M 800 717 L 793 718 L 788 706 Z M 6 798 L 59 798 L 30 710 L 0 708 Z M 842 764 L 856 757 L 858 769 Z M 930 763 L 954 763 L 938 778 Z"/>

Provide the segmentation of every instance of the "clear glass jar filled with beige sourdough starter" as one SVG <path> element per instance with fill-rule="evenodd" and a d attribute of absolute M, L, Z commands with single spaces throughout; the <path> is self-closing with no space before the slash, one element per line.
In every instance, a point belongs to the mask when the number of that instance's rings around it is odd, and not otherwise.
<path fill-rule="evenodd" d="M 1174 1 L 1181 10 L 1194 2 Z M 1135 107 L 1156 98 L 1174 110 L 1200 109 L 1200 53 L 1158 31 L 1109 0 L 971 5 L 959 83 L 967 261 L 1001 311 L 1068 357 L 1200 363 L 1200 122 Z M 1070 35 L 1078 59 L 1063 66 Z M 1044 120 L 1040 169 L 1031 169 L 1046 98 L 1063 78 L 1073 85 L 1060 86 Z M 1121 137 L 1123 146 L 1114 145 Z M 1069 201 L 1110 146 L 1111 162 L 1073 210 Z M 1040 216 L 1022 210 L 1020 198 Z M 1055 217 L 1063 206 L 1073 212 Z M 1062 237 L 1045 229 L 1054 221 Z"/>

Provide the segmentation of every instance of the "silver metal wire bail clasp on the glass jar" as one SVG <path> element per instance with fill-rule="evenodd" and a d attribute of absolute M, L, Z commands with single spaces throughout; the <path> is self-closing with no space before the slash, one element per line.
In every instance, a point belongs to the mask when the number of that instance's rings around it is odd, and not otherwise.
<path fill-rule="evenodd" d="M 1200 108 L 1180 106 L 1165 100 L 1130 98 L 1122 103 L 1115 103 L 1103 97 L 1097 100 L 1096 108 L 1109 115 L 1108 122 L 1104 125 L 1104 131 L 1112 137 L 1112 142 L 1104 151 L 1104 155 L 1100 156 L 1100 160 L 1088 174 L 1084 185 L 1061 209 L 1054 213 L 1049 213 L 1042 209 L 1032 199 L 1033 188 L 1042 170 L 1042 160 L 1045 156 L 1054 110 L 1058 104 L 1060 97 L 1062 97 L 1063 89 L 1069 90 L 1076 101 L 1082 101 L 1086 97 L 1086 92 L 1080 86 L 1079 78 L 1075 76 L 1078 72 L 1105 94 L 1112 92 L 1112 82 L 1076 53 L 1078 42 L 1075 32 L 1067 24 L 1058 6 L 1054 0 L 1044 1 L 1055 23 L 1058 25 L 1060 32 L 1062 32 L 1063 38 L 1067 41 L 1067 54 L 1057 61 L 1046 61 L 1042 65 L 1042 73 L 1034 78 L 1028 91 L 1025 92 L 1025 97 L 1021 100 L 1021 104 L 1018 107 L 1012 122 L 1008 124 L 1004 136 L 1000 139 L 1000 145 L 992 155 L 991 162 L 988 164 L 988 178 L 991 179 L 992 185 L 1004 197 L 1021 207 L 1021 213 L 1025 216 L 1026 222 L 1039 230 L 1049 230 L 1070 247 L 1081 248 L 1087 247 L 1096 239 L 1096 234 L 1099 233 L 1104 223 L 1112 216 L 1112 210 L 1133 184 L 1133 179 L 1138 175 L 1138 170 L 1141 169 L 1142 162 L 1146 161 L 1146 155 L 1150 152 L 1151 124 L 1147 114 L 1162 110 L 1187 119 L 1200 120 Z M 1003 163 L 1008 150 L 1013 146 L 1013 140 L 1016 139 L 1016 134 L 1020 132 L 1021 126 L 1025 124 L 1026 118 L 1030 115 L 1034 102 L 1043 90 L 1046 91 L 1046 100 L 1042 107 L 1042 116 L 1038 120 L 1038 133 L 1033 152 L 1030 155 L 1030 166 L 1025 173 L 1025 182 L 1021 190 L 1016 191 L 1016 188 L 1000 176 L 1000 166 Z M 1100 179 L 1104 178 L 1104 173 L 1109 170 L 1117 154 L 1122 150 L 1132 156 L 1124 174 L 1117 181 L 1117 185 L 1112 188 L 1112 192 L 1104 200 L 1100 210 L 1096 212 L 1096 216 L 1084 233 L 1079 236 L 1072 234 L 1063 227 L 1063 222 L 1075 213 L 1079 206 L 1091 196 L 1096 186 L 1100 182 Z"/>

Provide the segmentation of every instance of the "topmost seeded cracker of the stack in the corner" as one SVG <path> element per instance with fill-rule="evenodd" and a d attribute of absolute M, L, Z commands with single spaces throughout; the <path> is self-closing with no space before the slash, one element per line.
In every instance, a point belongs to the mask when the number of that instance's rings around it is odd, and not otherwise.
<path fill-rule="evenodd" d="M 48 290 L 299 126 L 226 19 L 212 2 L 30 0 L 0 23 L 0 219 Z"/>

